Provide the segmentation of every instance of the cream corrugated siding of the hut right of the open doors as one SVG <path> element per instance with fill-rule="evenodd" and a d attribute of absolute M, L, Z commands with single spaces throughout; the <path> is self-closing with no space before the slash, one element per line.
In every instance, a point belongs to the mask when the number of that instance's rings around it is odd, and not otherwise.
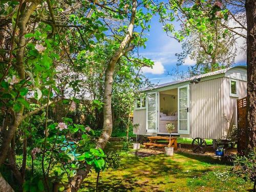
<path fill-rule="evenodd" d="M 238 94 L 246 96 L 245 81 L 238 80 Z M 190 84 L 190 135 L 181 136 L 225 139 L 229 127 L 237 124 L 237 99 L 229 96 L 226 77 Z"/>

